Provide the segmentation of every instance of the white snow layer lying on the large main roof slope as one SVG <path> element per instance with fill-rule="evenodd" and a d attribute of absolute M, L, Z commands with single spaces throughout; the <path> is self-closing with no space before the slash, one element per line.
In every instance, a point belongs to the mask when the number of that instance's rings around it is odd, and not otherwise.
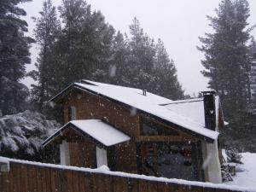
<path fill-rule="evenodd" d="M 93 82 L 89 80 L 83 80 L 82 83 L 75 83 L 74 86 L 79 87 L 82 90 L 90 90 L 96 94 L 107 96 L 115 101 L 125 103 L 132 108 L 137 108 L 143 112 L 150 113 L 159 117 L 160 119 L 165 119 L 173 124 L 180 125 L 189 131 L 194 131 L 201 136 L 211 138 L 213 140 L 218 138 L 218 131 L 212 131 L 205 128 L 204 123 L 202 123 L 201 118 L 204 118 L 203 108 L 196 108 L 195 118 L 191 117 L 186 113 L 178 113 L 177 110 L 170 110 L 164 107 L 166 103 L 175 103 L 174 101 L 167 99 L 162 96 L 154 95 L 147 92 L 146 96 L 143 96 L 143 90 L 128 88 L 113 84 L 102 84 L 98 82 Z M 194 103 L 191 105 L 196 105 Z M 187 106 L 187 109 L 183 109 L 183 112 L 188 110 L 191 106 Z M 182 108 L 182 107 L 181 107 Z"/>

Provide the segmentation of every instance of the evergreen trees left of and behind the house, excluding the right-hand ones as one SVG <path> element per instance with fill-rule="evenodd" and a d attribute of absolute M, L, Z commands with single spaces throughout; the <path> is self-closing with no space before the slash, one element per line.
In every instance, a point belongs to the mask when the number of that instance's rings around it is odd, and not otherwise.
<path fill-rule="evenodd" d="M 36 27 L 31 38 L 25 36 L 27 24 L 20 19 L 26 15 L 17 6 L 21 2 L 25 1 L 1 3 L 3 22 L 9 22 L 9 26 L 1 27 L 1 51 L 6 54 L 1 53 L 4 58 L 0 70 L 3 114 L 24 110 L 29 93 L 20 79 L 26 76 L 36 81 L 32 84 L 29 102 L 39 112 L 44 112 L 44 103 L 51 96 L 80 79 L 136 87 L 172 99 L 183 98 L 176 67 L 163 42 L 160 39 L 154 42 L 143 32 L 137 18 L 132 20 L 130 34 L 126 35 L 116 32 L 102 13 L 91 10 L 84 0 L 63 0 L 58 9 L 51 0 L 45 0 L 39 17 L 33 18 Z M 4 30 L 14 30 L 16 34 Z M 40 49 L 35 63 L 37 70 L 26 73 L 32 43 Z"/>

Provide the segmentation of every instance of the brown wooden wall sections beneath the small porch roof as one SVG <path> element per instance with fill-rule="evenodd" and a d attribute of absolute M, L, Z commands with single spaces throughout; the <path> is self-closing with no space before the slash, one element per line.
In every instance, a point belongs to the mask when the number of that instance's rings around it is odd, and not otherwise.
<path fill-rule="evenodd" d="M 69 143 L 70 165 L 96 168 L 96 143 L 84 139 Z M 137 173 L 136 143 L 119 143 L 107 148 L 108 167 L 111 171 Z"/>

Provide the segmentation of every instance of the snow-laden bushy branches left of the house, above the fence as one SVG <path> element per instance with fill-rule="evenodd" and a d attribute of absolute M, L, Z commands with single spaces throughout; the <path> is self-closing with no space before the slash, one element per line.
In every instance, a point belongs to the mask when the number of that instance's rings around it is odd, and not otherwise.
<path fill-rule="evenodd" d="M 44 139 L 59 127 L 54 120 L 29 110 L 0 117 L 0 155 L 33 159 L 41 151 Z"/>

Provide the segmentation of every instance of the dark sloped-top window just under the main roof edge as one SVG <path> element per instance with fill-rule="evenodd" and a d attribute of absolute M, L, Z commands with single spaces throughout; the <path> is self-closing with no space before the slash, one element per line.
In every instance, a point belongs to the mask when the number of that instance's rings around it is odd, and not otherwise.
<path fill-rule="evenodd" d="M 169 127 L 155 123 L 150 119 L 143 119 L 142 131 L 143 136 L 172 136 L 178 135 L 177 131 Z"/>

